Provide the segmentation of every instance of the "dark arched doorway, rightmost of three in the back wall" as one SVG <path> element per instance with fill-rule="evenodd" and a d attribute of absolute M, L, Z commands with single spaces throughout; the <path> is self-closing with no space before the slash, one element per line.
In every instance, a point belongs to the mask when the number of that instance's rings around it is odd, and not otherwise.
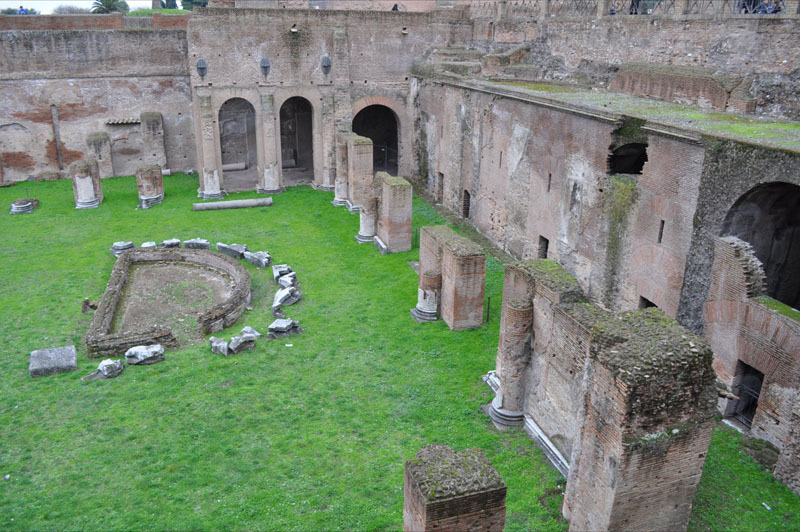
<path fill-rule="evenodd" d="M 372 140 L 372 167 L 397 175 L 397 116 L 385 105 L 370 105 L 353 117 L 353 133 Z"/>

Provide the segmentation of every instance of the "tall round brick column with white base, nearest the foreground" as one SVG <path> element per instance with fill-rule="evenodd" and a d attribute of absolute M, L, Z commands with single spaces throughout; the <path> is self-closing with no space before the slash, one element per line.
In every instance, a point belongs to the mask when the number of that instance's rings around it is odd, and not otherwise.
<path fill-rule="evenodd" d="M 496 374 L 500 389 L 489 408 L 489 417 L 501 425 L 524 422 L 525 370 L 531 356 L 533 305 L 530 298 L 503 301 Z"/>

